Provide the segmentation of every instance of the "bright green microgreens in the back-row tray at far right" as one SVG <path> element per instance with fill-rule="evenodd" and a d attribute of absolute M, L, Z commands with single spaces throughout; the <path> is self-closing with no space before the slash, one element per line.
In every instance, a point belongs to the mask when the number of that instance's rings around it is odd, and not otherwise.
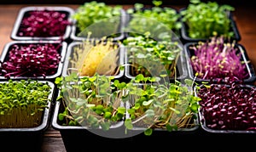
<path fill-rule="evenodd" d="M 188 35 L 191 38 L 209 38 L 213 36 L 235 37 L 231 30 L 230 5 L 219 5 L 217 2 L 203 3 L 191 0 L 189 6 L 183 9 L 182 20 L 188 25 Z"/>

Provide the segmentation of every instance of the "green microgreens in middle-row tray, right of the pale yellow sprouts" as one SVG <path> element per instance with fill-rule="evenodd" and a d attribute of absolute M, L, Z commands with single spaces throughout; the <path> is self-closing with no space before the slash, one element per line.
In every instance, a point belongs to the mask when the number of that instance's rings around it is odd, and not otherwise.
<path fill-rule="evenodd" d="M 144 76 L 166 74 L 175 76 L 177 59 L 182 48 L 178 42 L 156 41 L 150 37 L 150 33 L 144 36 L 127 37 L 123 44 L 127 48 L 131 75 Z"/>

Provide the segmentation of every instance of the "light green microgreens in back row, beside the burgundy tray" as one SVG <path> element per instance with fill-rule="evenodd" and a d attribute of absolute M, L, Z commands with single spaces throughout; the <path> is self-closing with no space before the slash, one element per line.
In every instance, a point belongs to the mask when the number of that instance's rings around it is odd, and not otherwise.
<path fill-rule="evenodd" d="M 120 24 L 121 6 L 109 6 L 96 1 L 80 5 L 73 19 L 79 28 L 79 37 L 92 32 L 92 37 L 108 36 L 118 32 Z"/>

